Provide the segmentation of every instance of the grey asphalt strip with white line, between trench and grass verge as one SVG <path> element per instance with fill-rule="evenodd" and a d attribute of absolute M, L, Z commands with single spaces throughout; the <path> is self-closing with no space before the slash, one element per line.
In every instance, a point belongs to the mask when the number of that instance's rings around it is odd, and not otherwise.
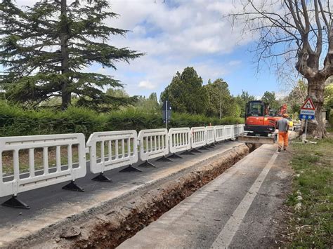
<path fill-rule="evenodd" d="M 267 248 L 292 171 L 265 144 L 185 198 L 119 248 Z"/>

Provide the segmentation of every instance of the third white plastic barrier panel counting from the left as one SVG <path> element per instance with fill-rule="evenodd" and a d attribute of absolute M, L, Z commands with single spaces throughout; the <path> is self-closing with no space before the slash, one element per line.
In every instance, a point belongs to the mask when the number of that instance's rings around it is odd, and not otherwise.
<path fill-rule="evenodd" d="M 142 161 L 169 154 L 168 130 L 141 130 L 138 134 L 139 157 Z"/>

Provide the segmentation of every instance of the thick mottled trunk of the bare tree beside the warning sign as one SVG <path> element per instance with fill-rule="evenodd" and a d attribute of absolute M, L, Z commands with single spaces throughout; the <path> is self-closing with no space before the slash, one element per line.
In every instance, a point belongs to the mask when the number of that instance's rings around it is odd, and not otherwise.
<path fill-rule="evenodd" d="M 324 122 L 322 121 L 322 105 L 324 103 L 325 81 L 308 79 L 308 97 L 311 97 L 315 105 L 315 119 L 308 121 L 308 134 L 313 137 L 326 137 Z"/>

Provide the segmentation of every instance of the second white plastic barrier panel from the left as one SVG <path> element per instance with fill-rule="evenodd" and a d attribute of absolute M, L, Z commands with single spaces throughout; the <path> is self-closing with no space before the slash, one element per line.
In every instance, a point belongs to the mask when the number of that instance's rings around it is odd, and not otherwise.
<path fill-rule="evenodd" d="M 106 131 L 90 135 L 86 147 L 90 152 L 91 173 L 131 165 L 138 161 L 136 130 Z"/>

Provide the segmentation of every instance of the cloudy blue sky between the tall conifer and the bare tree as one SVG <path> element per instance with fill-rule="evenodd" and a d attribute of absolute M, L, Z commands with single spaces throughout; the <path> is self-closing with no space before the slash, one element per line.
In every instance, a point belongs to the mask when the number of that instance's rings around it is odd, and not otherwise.
<path fill-rule="evenodd" d="M 30 5 L 33 0 L 17 0 Z M 232 0 L 110 0 L 120 16 L 107 20 L 112 27 L 129 29 L 126 38 L 111 36 L 109 43 L 147 53 L 130 65 L 119 62 L 117 71 L 98 65 L 86 69 L 115 76 L 130 95 L 157 95 L 171 82 L 176 71 L 194 67 L 208 79 L 225 79 L 233 95 L 242 89 L 261 96 L 266 90 L 280 92 L 274 70 L 263 67 L 257 74 L 254 54 L 256 34 L 241 36 L 241 26 L 223 19 L 240 6 Z"/>

